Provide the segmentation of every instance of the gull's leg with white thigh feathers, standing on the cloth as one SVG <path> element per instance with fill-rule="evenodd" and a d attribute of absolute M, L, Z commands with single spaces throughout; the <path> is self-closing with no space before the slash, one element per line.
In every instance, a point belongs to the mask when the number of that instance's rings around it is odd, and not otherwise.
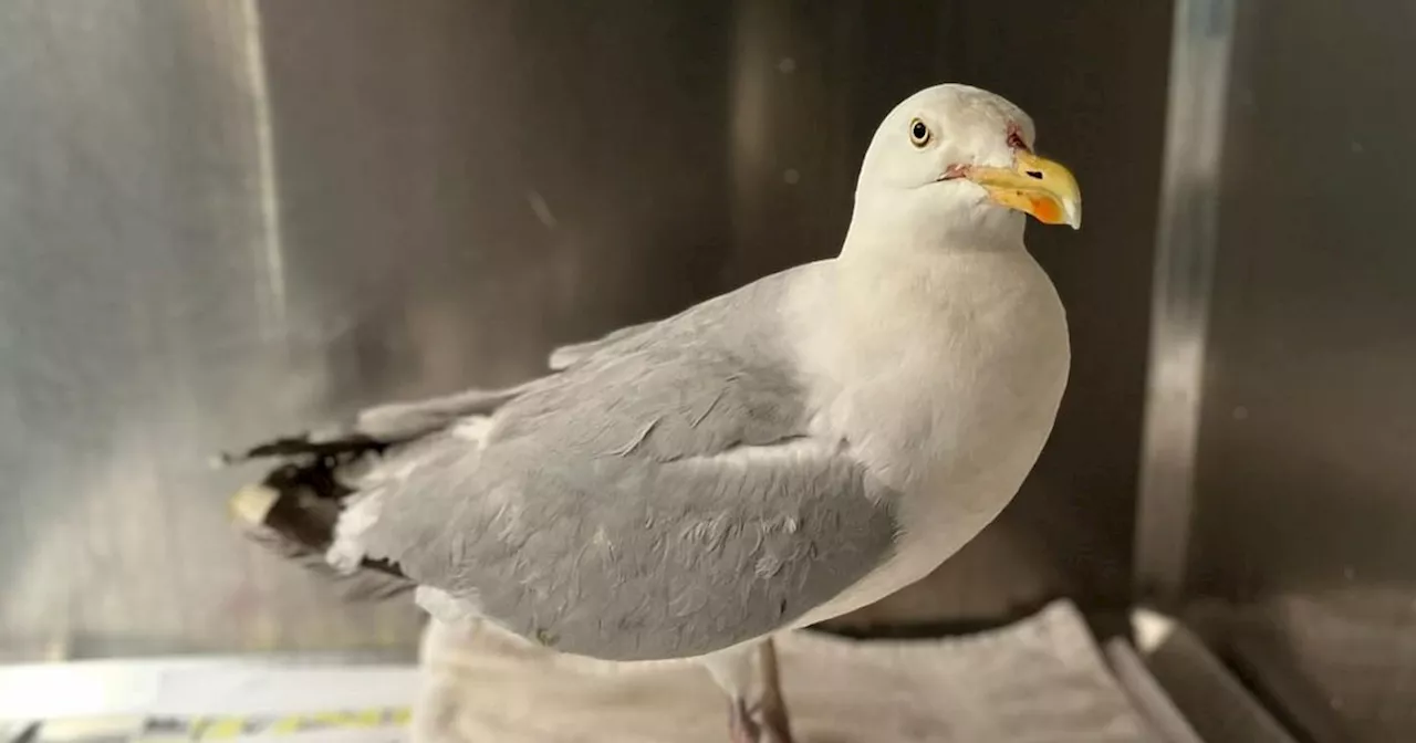
<path fill-rule="evenodd" d="M 728 693 L 732 743 L 792 743 L 772 640 L 718 654 L 707 665 L 714 681 Z"/>

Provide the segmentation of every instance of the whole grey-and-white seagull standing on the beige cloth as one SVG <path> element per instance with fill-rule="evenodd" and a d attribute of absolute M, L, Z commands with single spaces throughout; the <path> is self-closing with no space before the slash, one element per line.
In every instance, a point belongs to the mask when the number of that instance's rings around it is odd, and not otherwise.
<path fill-rule="evenodd" d="M 865 151 L 833 259 L 555 350 L 508 389 L 255 446 L 248 535 L 556 652 L 702 664 L 735 743 L 790 743 L 773 635 L 930 573 L 1017 494 L 1066 386 L 1027 215 L 1076 180 L 991 92 L 923 89 Z M 753 692 L 752 689 L 756 689 Z"/>

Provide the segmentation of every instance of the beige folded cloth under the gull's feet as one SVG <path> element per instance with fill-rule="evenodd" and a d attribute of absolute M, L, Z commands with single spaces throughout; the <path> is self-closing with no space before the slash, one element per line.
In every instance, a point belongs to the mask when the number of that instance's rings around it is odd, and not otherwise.
<path fill-rule="evenodd" d="M 1069 603 L 956 640 L 780 641 L 797 743 L 1153 740 Z M 726 742 L 726 701 L 695 667 L 617 671 L 432 626 L 418 743 Z"/>

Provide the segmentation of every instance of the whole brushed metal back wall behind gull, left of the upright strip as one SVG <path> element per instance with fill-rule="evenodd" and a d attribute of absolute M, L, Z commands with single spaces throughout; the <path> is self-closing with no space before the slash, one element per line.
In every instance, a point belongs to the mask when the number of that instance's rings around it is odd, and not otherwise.
<path fill-rule="evenodd" d="M 244 548 L 207 456 L 833 255 L 902 96 L 990 86 L 1075 166 L 1031 243 L 1075 369 L 997 528 L 884 614 L 1129 586 L 1168 8 L 1103 0 L 0 8 L 0 647 L 406 647 Z M 1131 7 L 1136 6 L 1136 7 Z"/>

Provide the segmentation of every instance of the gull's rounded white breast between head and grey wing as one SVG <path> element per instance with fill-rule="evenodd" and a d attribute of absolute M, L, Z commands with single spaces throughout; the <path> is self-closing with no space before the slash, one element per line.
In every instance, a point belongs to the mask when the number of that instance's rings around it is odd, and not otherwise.
<path fill-rule="evenodd" d="M 902 494 L 903 534 L 801 626 L 925 577 L 987 526 L 1037 461 L 1070 361 L 1062 304 L 1024 250 L 893 262 L 843 286 L 835 333 L 803 345 L 816 425 Z"/>

